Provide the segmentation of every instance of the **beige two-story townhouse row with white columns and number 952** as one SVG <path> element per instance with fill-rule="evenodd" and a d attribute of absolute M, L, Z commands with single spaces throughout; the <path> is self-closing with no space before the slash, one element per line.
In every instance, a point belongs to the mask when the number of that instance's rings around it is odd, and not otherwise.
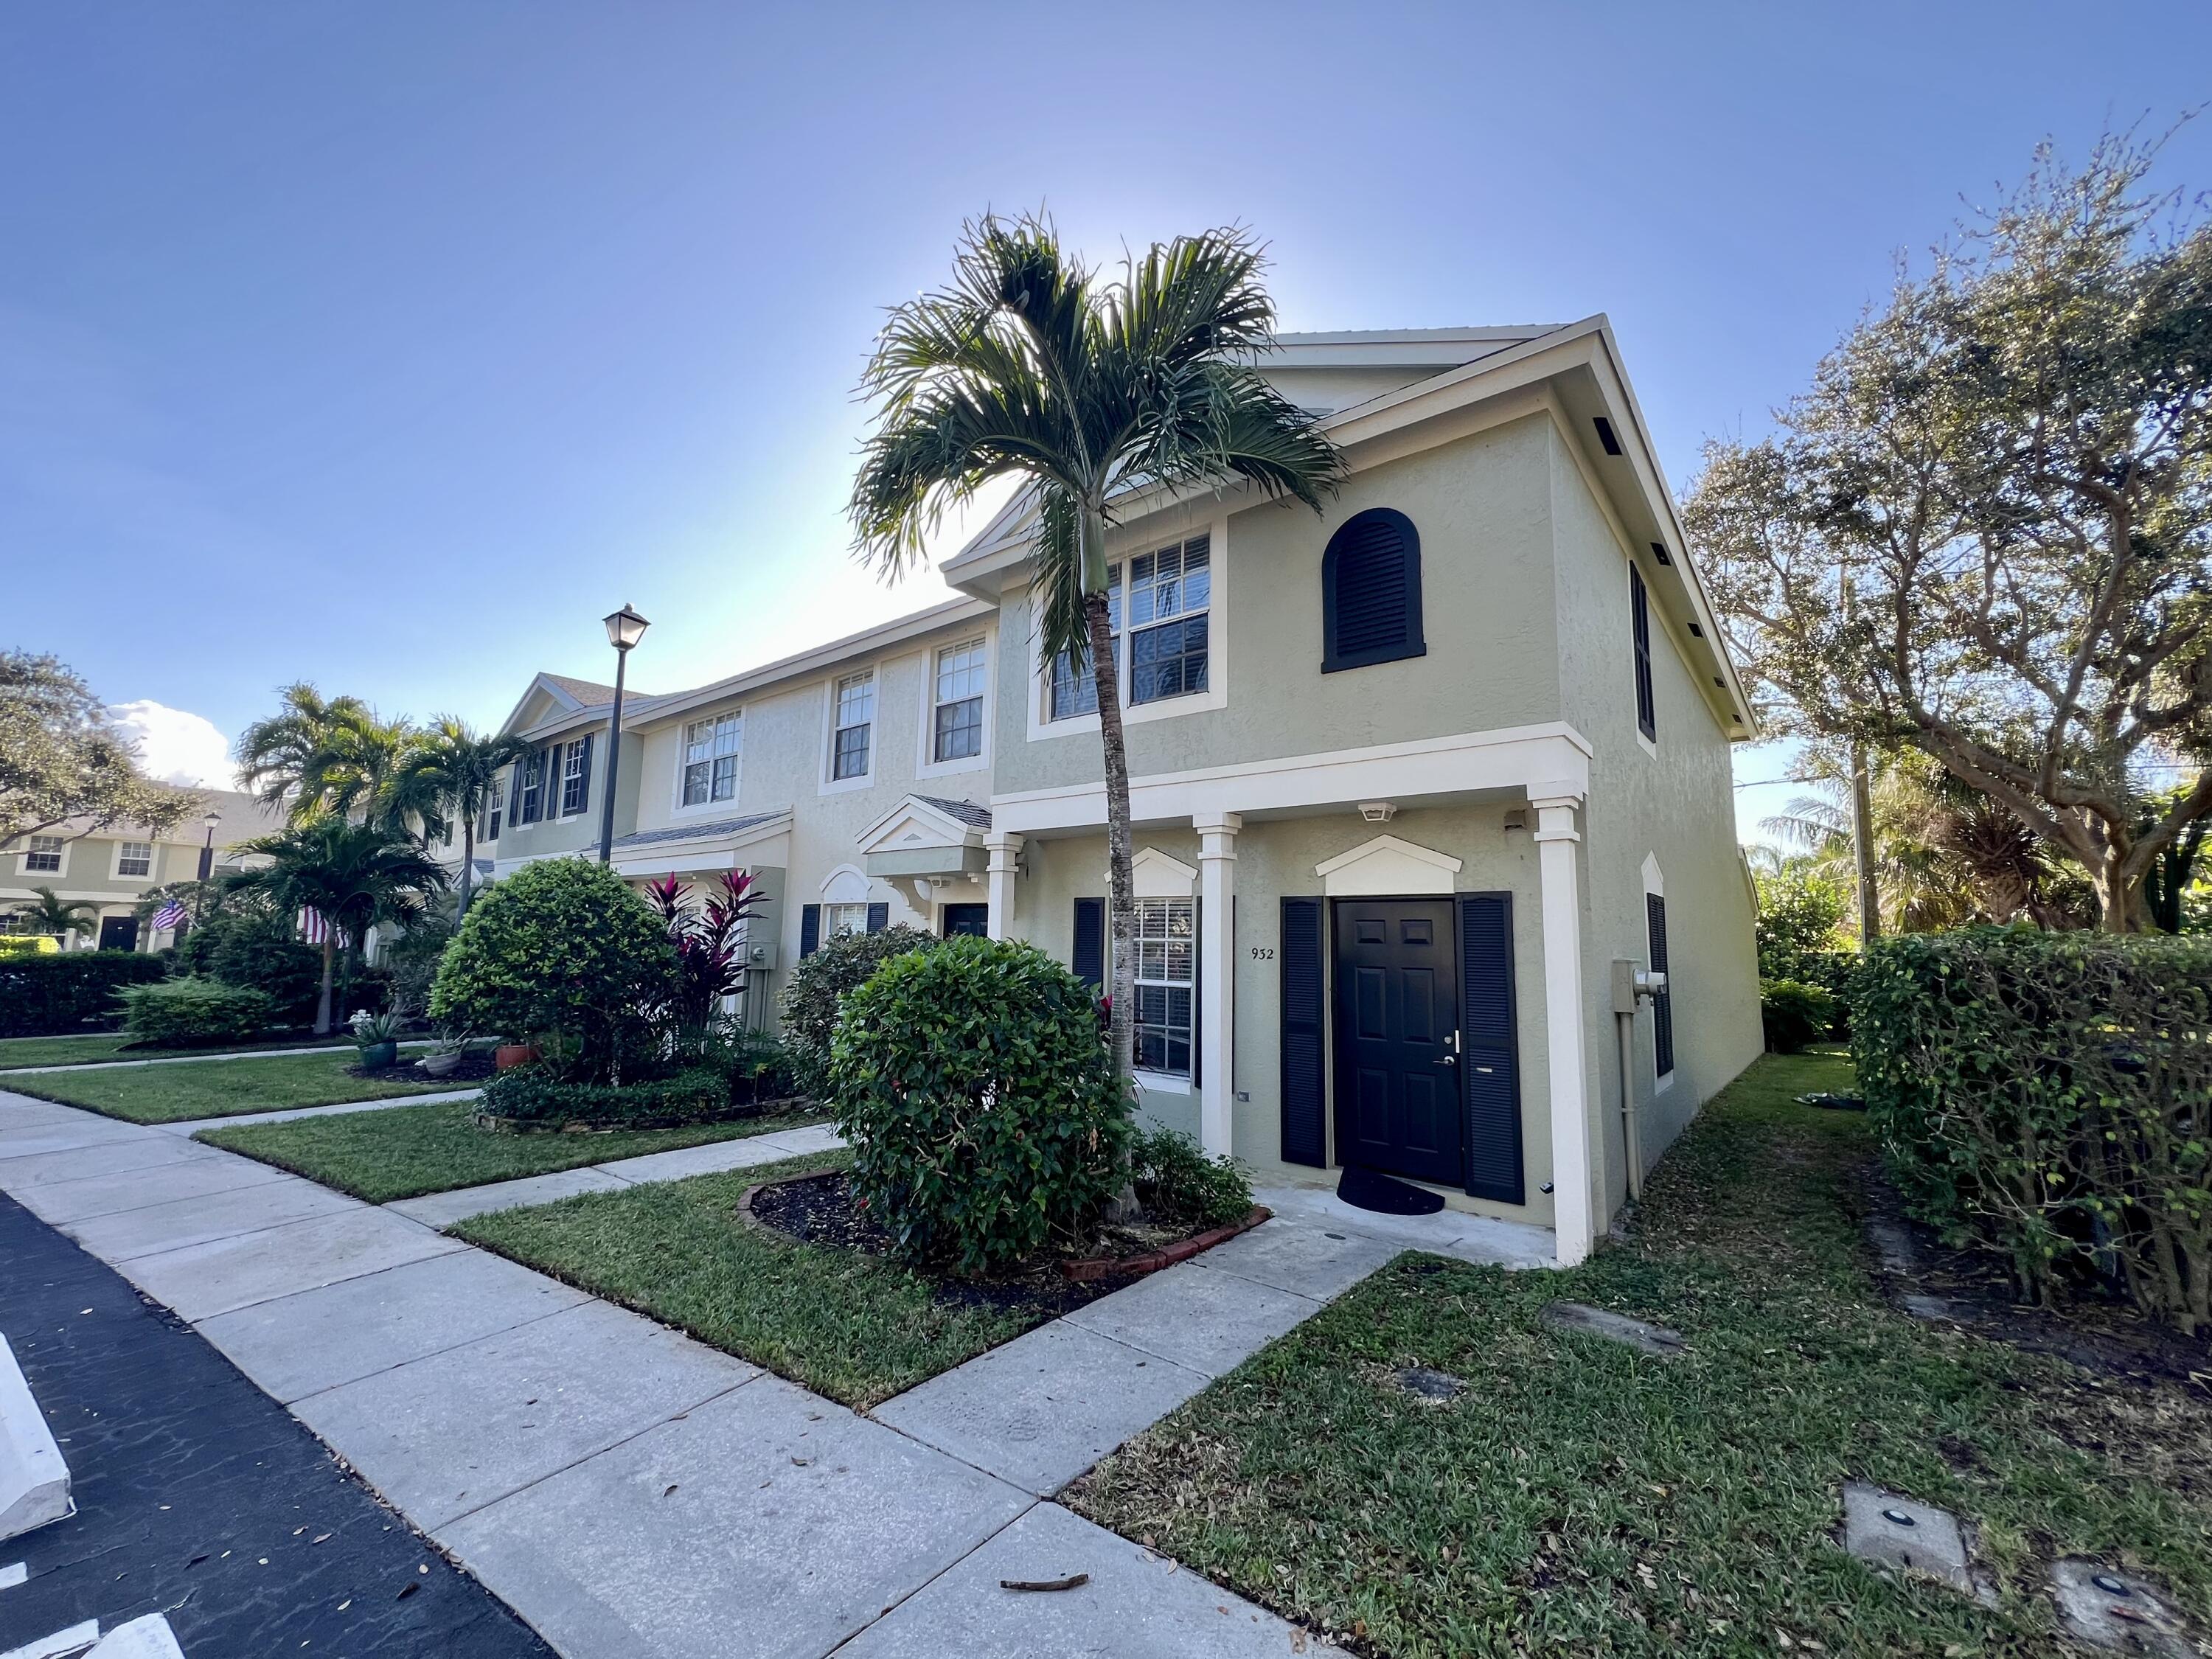
<path fill-rule="evenodd" d="M 1670 980 L 1635 1015 L 1646 1166 L 1761 1051 L 1736 672 L 1601 316 L 1292 334 L 1263 369 L 1345 449 L 1327 511 L 1225 487 L 1110 535 L 1141 1108 L 1579 1261 L 1628 1186 L 1613 962 Z M 754 1022 L 889 920 L 1108 980 L 1095 686 L 1035 661 L 1031 535 L 1018 498 L 945 564 L 960 597 L 626 706 L 615 865 L 761 878 Z M 540 790 L 604 787 L 608 697 L 533 681 Z M 518 834 L 529 776 L 487 858 L 595 849 L 588 810 Z"/>

